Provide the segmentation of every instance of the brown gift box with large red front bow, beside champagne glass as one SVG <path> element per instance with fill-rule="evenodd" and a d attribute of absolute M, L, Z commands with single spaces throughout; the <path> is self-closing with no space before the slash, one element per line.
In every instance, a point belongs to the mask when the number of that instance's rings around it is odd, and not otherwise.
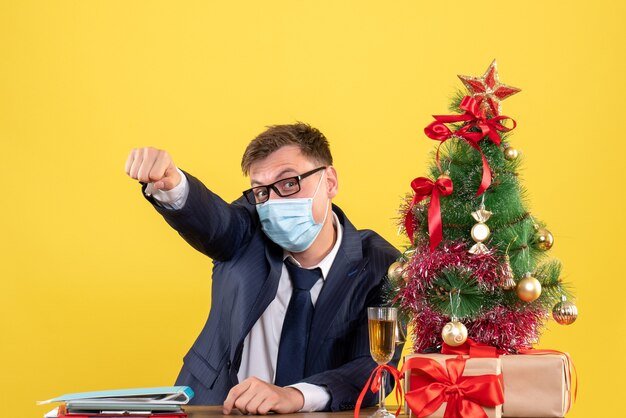
<path fill-rule="evenodd" d="M 405 408 L 413 417 L 500 418 L 504 386 L 498 358 L 405 357 Z"/>

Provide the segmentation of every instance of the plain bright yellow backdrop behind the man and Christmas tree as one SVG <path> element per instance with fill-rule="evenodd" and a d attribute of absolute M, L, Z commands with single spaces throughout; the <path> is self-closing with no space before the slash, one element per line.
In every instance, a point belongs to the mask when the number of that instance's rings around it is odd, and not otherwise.
<path fill-rule="evenodd" d="M 523 92 L 533 213 L 576 288 L 548 323 L 580 391 L 569 416 L 616 416 L 626 373 L 626 17 L 621 1 L 0 2 L 0 405 L 41 416 L 67 392 L 168 385 L 204 324 L 210 260 L 142 199 L 132 147 L 167 149 L 225 199 L 265 125 L 331 141 L 336 202 L 400 246 L 394 217 L 426 174 L 431 114 L 457 74 Z M 532 402 L 532 400 L 529 400 Z"/>

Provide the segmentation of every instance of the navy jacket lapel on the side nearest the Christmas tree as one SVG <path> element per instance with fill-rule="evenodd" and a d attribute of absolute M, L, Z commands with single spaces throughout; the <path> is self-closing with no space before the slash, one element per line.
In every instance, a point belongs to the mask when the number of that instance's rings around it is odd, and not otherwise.
<path fill-rule="evenodd" d="M 343 225 L 343 238 L 333 265 L 328 272 L 328 277 L 324 282 L 324 287 L 315 304 L 315 313 L 311 324 L 306 355 L 307 369 L 310 367 L 313 359 L 317 357 L 324 337 L 335 320 L 339 305 L 341 303 L 349 303 L 349 298 L 346 298 L 346 294 L 353 286 L 354 280 L 358 277 L 358 273 L 364 265 L 359 232 L 338 207 L 333 205 L 333 211 Z"/>

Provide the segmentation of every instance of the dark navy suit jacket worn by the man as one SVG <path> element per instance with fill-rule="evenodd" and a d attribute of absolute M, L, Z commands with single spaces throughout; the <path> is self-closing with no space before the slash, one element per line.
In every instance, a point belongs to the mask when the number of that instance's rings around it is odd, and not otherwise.
<path fill-rule="evenodd" d="M 221 404 L 238 383 L 245 337 L 276 295 L 283 250 L 263 233 L 256 209 L 244 198 L 228 204 L 193 176 L 187 179 L 189 196 L 182 209 L 155 208 L 214 266 L 211 311 L 176 384 L 192 387 L 195 404 Z M 327 388 L 327 408 L 335 411 L 354 408 L 376 366 L 366 308 L 383 303 L 383 280 L 399 253 L 378 234 L 357 231 L 334 205 L 333 211 L 343 225 L 343 240 L 316 303 L 303 382 Z M 370 393 L 365 405 L 374 402 Z"/>

